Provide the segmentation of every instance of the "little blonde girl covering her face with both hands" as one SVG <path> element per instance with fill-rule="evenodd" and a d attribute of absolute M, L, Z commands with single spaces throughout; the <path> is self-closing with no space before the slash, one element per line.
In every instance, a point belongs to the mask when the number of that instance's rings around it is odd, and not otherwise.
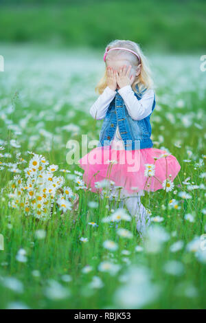
<path fill-rule="evenodd" d="M 99 144 L 79 160 L 83 180 L 92 192 L 104 197 L 105 179 L 111 181 L 111 196 L 124 203 L 137 218 L 143 234 L 150 212 L 140 201 L 144 191 L 172 190 L 181 166 L 176 157 L 152 148 L 150 115 L 155 93 L 146 57 L 133 41 L 115 40 L 104 53 L 106 69 L 95 90 L 100 96 L 90 109 L 97 120 L 104 119 Z M 115 184 L 115 186 L 114 186 Z"/>

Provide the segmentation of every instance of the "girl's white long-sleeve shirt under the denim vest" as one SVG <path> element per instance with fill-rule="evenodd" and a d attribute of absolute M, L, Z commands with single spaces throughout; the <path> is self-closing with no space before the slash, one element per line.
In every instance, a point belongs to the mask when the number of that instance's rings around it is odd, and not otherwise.
<path fill-rule="evenodd" d="M 146 118 L 152 112 L 152 104 L 154 100 L 154 91 L 148 89 L 142 96 L 141 100 L 138 100 L 130 85 L 126 85 L 121 89 L 118 89 L 120 96 L 124 100 L 128 114 L 133 120 L 141 120 Z M 115 98 L 116 91 L 113 91 L 110 87 L 106 87 L 102 94 L 91 106 L 89 113 L 96 120 L 104 119 L 109 104 Z M 111 148 L 122 150 L 124 149 L 124 142 L 119 133 L 119 126 L 115 131 L 115 136 L 111 142 Z"/>

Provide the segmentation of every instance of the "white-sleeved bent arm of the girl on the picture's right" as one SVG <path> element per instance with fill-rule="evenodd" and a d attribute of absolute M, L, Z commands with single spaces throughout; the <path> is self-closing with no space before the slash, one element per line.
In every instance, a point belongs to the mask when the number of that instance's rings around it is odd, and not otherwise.
<path fill-rule="evenodd" d="M 128 114 L 133 120 L 141 120 L 152 113 L 152 104 L 155 93 L 152 89 L 146 91 L 141 100 L 138 100 L 130 85 L 126 85 L 118 90 L 126 105 Z"/>

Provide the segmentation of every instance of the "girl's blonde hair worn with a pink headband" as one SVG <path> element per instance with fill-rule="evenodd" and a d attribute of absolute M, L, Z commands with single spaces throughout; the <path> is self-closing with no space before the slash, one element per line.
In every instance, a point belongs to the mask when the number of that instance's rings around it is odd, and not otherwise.
<path fill-rule="evenodd" d="M 108 49 L 111 49 L 113 47 L 126 47 L 128 49 L 132 49 L 134 52 L 136 52 L 139 55 L 141 62 L 139 62 L 139 59 L 137 58 L 137 56 L 135 56 L 131 52 L 127 52 L 124 49 L 115 49 L 115 50 L 112 50 L 111 52 L 108 53 L 108 55 L 112 54 L 113 57 L 115 57 L 115 55 L 119 55 L 119 54 L 126 56 L 126 58 L 130 61 L 130 63 L 133 66 L 135 65 L 137 67 L 139 64 L 141 64 L 140 74 L 139 74 L 139 76 L 135 76 L 135 80 L 134 80 L 133 84 L 131 85 L 131 87 L 135 91 L 135 93 L 139 94 L 144 89 L 151 89 L 153 87 L 153 81 L 152 81 L 152 76 L 151 76 L 151 71 L 150 71 L 150 67 L 148 64 L 148 60 L 147 60 L 146 56 L 144 56 L 141 48 L 139 47 L 139 45 L 137 43 L 135 43 L 134 41 L 121 41 L 119 39 L 116 39 L 115 41 L 111 41 L 111 43 L 108 43 L 108 45 L 106 47 Z M 103 58 L 103 56 L 102 56 L 102 58 Z M 107 58 L 107 56 L 106 56 L 106 58 Z M 107 84 L 106 84 L 106 68 L 105 68 L 104 76 L 102 76 L 102 78 L 98 82 L 97 86 L 95 87 L 95 92 L 98 94 L 102 94 L 102 92 L 104 91 L 106 86 L 107 86 Z"/>

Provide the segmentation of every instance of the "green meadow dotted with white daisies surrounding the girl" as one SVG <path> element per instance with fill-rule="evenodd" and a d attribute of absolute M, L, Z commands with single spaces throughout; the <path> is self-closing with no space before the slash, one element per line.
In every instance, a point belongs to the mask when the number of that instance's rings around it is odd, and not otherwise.
<path fill-rule="evenodd" d="M 78 51 L 55 52 L 26 46 L 5 46 L 2 51 L 7 63 L 0 74 L 0 145 L 5 146 L 0 172 L 0 233 L 5 243 L 4 251 L 0 251 L 1 309 L 205 309 L 205 251 L 196 247 L 192 252 L 187 247 L 205 233 L 206 225 L 206 98 L 199 56 L 150 54 L 157 93 L 157 107 L 151 118 L 152 140 L 154 147 L 168 148 L 181 164 L 172 192 L 159 190 L 142 199 L 152 217 L 163 218 L 161 223 L 153 223 L 148 236 L 151 252 L 148 242 L 141 241 L 137 234 L 135 219 L 118 223 L 118 227 L 133 233 L 131 239 L 117 235 L 117 223 L 102 223 L 105 216 L 112 214 L 108 198 L 76 189 L 74 170 L 81 169 L 66 162 L 68 140 L 81 144 L 82 134 L 87 134 L 89 140 L 98 139 L 102 121 L 95 122 L 88 111 L 96 98 L 95 82 L 102 75 L 101 54 L 91 57 L 88 50 L 81 56 Z M 68 125 L 79 128 L 65 130 L 63 127 Z M 10 140 L 20 147 L 12 146 Z M 9 207 L 10 180 L 16 175 L 10 171 L 10 163 L 19 161 L 16 153 L 29 162 L 31 155 L 27 151 L 42 154 L 49 164 L 59 166 L 57 176 L 63 175 L 65 186 L 80 196 L 76 217 L 70 211 L 61 216 L 56 203 L 52 217 L 46 221 Z M 17 167 L 23 170 L 27 164 Z M 71 173 L 64 174 L 61 168 Z M 23 172 L 20 175 L 24 177 Z M 187 177 L 196 188 L 183 183 Z M 181 191 L 192 199 L 181 198 Z M 171 199 L 176 199 L 179 208 L 171 206 Z M 91 201 L 98 205 L 92 208 Z M 192 214 L 194 222 L 185 219 L 185 214 Z M 98 227 L 89 225 L 91 221 Z M 37 230 L 44 230 L 45 238 L 39 239 Z M 165 242 L 159 241 L 162 234 L 168 234 Z M 88 238 L 88 242 L 82 243 L 81 237 Z M 116 251 L 103 247 L 108 239 L 117 243 Z M 154 252 L 158 241 L 159 248 Z M 172 252 L 171 245 L 179 241 L 180 249 Z M 137 246 L 141 247 L 139 251 Z M 23 257 L 16 258 L 21 249 L 25 250 L 21 251 Z M 106 260 L 119 265 L 116 274 L 100 271 L 100 264 Z M 177 263 L 168 263 L 173 260 Z M 165 270 L 166 264 L 174 274 Z M 86 274 L 82 269 L 87 265 L 92 270 Z M 94 276 L 101 279 L 97 289 L 89 285 Z"/>

